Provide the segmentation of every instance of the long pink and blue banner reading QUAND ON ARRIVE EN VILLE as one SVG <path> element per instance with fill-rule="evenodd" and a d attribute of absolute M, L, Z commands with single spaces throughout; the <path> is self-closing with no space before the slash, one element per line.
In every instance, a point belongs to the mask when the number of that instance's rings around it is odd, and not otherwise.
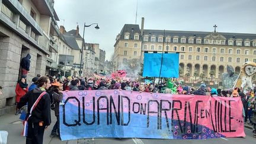
<path fill-rule="evenodd" d="M 62 140 L 86 137 L 241 137 L 240 98 L 101 90 L 64 92 Z"/>

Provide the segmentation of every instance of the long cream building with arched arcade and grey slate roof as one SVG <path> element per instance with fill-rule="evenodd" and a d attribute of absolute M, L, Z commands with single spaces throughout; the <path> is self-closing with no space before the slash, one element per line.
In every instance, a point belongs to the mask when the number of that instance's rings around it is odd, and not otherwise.
<path fill-rule="evenodd" d="M 180 53 L 181 76 L 204 73 L 205 78 L 215 81 L 220 81 L 228 65 L 239 73 L 244 62 L 256 62 L 256 34 L 221 33 L 216 25 L 214 31 L 144 30 L 143 25 L 143 18 L 140 29 L 136 24 L 124 24 L 114 45 L 116 69 L 124 60 L 135 57 L 134 52 L 140 57 L 140 49 L 142 62 L 145 52 Z M 135 43 L 141 47 L 135 47 Z"/>

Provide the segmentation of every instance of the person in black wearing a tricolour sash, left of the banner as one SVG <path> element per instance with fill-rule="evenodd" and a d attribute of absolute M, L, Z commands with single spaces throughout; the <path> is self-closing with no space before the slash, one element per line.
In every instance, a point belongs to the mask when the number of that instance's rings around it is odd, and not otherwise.
<path fill-rule="evenodd" d="M 29 113 L 24 121 L 23 136 L 27 136 L 27 144 L 43 144 L 44 129 L 51 123 L 50 117 L 50 96 L 47 94 L 50 79 L 41 76 L 36 82 L 38 88 L 29 91 L 20 98 L 17 107 L 21 108 L 28 103 Z"/>

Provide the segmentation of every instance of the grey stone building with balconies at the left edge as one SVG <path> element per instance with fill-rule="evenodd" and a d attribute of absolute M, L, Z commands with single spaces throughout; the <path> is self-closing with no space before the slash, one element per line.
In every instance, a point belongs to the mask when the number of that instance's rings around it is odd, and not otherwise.
<path fill-rule="evenodd" d="M 27 82 L 53 67 L 58 20 L 53 0 L 0 0 L 0 115 L 15 107 L 15 87 L 21 76 L 20 62 L 31 55 Z M 56 65 L 55 65 L 56 66 Z"/>

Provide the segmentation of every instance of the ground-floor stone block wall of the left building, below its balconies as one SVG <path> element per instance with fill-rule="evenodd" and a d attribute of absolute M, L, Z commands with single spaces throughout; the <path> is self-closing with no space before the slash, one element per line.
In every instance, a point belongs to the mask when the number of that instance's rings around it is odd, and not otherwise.
<path fill-rule="evenodd" d="M 5 25 L 0 24 L 0 85 L 3 95 L 0 96 L 0 114 L 4 114 L 8 105 L 15 104 L 15 87 L 20 78 L 20 60 L 31 55 L 30 71 L 27 77 L 28 85 L 37 74 L 44 75 L 46 69 L 46 54 L 28 43 Z"/>

